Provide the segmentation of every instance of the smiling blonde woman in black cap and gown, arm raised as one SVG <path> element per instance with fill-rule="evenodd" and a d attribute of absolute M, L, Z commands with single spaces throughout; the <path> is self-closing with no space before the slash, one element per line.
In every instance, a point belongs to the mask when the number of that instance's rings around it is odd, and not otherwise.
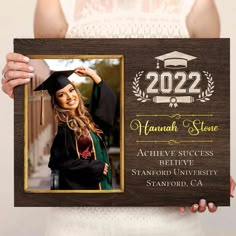
<path fill-rule="evenodd" d="M 68 79 L 72 74 L 88 76 L 94 83 L 93 113 L 96 120 L 112 126 L 116 96 L 112 89 L 91 68 L 78 67 L 56 71 L 34 91 L 47 90 L 58 124 L 51 150 L 49 168 L 58 172 L 59 190 L 111 190 L 111 166 L 104 134 L 86 108 L 83 97 Z M 105 94 L 106 99 L 103 99 Z M 109 111 L 109 112 L 108 112 Z"/>

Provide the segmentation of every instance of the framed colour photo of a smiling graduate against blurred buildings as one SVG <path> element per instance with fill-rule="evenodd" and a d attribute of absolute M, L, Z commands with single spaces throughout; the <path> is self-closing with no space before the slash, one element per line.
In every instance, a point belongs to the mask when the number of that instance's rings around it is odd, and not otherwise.
<path fill-rule="evenodd" d="M 26 192 L 120 189 L 121 59 L 31 59 Z M 69 69 L 68 69 L 69 68 Z"/>

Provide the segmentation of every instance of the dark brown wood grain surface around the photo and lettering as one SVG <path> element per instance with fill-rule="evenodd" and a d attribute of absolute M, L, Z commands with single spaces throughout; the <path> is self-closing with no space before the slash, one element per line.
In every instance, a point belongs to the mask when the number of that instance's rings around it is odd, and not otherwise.
<path fill-rule="evenodd" d="M 229 206 L 230 178 L 230 70 L 229 39 L 15 39 L 14 51 L 24 55 L 123 55 L 124 56 L 124 192 L 121 193 L 26 193 L 24 192 L 24 86 L 15 89 L 15 206 L 183 206 L 192 205 L 205 198 L 218 206 Z M 205 103 L 169 104 L 139 102 L 133 93 L 133 81 L 139 71 L 144 74 L 156 71 L 156 56 L 180 51 L 197 57 L 188 64 L 190 71 L 208 71 L 212 74 L 215 88 L 210 101 Z M 162 62 L 160 62 L 162 63 Z M 161 71 L 166 71 L 161 65 Z M 148 81 L 140 78 L 140 88 L 145 91 Z M 205 81 L 205 82 L 204 82 Z M 205 79 L 201 86 L 207 87 Z M 154 96 L 154 95 L 152 95 Z M 150 95 L 150 97 L 152 97 Z M 197 98 L 197 97 L 196 97 Z M 181 129 L 177 133 L 139 136 L 130 129 L 130 122 L 140 114 L 213 114 L 202 120 L 217 124 L 218 132 L 186 135 Z M 141 117 L 145 122 L 165 125 L 175 118 Z M 180 125 L 179 125 L 180 126 Z M 168 143 L 137 143 L 137 140 L 195 140 L 192 143 L 169 145 Z M 197 140 L 214 140 L 213 143 L 198 143 Z M 138 150 L 183 151 L 210 150 L 214 157 L 137 157 Z M 160 166 L 160 160 L 192 160 L 193 166 Z M 215 176 L 137 176 L 132 170 L 171 170 L 173 168 L 217 170 Z M 155 181 L 201 180 L 201 187 L 147 187 L 148 179 Z"/>

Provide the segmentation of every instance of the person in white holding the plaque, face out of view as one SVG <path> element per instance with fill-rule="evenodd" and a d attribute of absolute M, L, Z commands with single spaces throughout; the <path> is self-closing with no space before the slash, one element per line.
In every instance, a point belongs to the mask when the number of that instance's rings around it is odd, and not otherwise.
<path fill-rule="evenodd" d="M 218 38 L 220 36 L 219 16 L 213 0 L 77 0 L 75 3 L 75 22 L 69 25 L 59 0 L 38 0 L 34 22 L 35 37 Z M 23 55 L 10 53 L 6 60 L 2 73 L 2 89 L 13 97 L 15 86 L 30 81 L 33 68 L 28 65 L 29 58 Z M 233 178 L 230 179 L 230 183 L 230 195 L 233 196 L 235 188 Z M 192 213 L 204 212 L 206 209 L 215 212 L 216 206 L 201 199 L 189 209 Z M 180 208 L 180 211 L 184 212 L 185 208 Z M 55 217 L 57 220 L 54 220 Z M 186 211 L 186 214 L 180 215 L 173 207 L 55 208 L 51 218 L 47 236 L 74 236 L 78 233 L 203 235 L 195 214 Z M 88 221 L 93 222 L 93 227 L 87 223 Z"/>

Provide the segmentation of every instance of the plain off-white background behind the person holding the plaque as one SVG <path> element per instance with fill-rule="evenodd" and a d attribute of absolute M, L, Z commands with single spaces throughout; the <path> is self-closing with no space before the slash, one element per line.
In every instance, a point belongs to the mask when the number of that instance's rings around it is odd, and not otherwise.
<path fill-rule="evenodd" d="M 49 0 L 50 1 L 50 0 Z M 65 1 L 72 7 L 73 1 Z M 204 1 L 204 0 L 203 0 Z M 13 38 L 33 38 L 32 21 L 35 0 L 0 2 L 0 69 L 5 55 L 13 49 Z M 69 4 L 70 2 L 70 4 Z M 231 38 L 231 173 L 236 178 L 236 2 L 216 1 L 222 25 L 221 37 Z M 66 5 L 66 4 L 65 4 Z M 72 13 L 72 12 L 71 12 Z M 68 15 L 68 19 L 71 18 Z M 14 208 L 13 185 L 13 100 L 0 91 L 0 235 L 42 236 L 47 222 L 49 208 Z M 203 213 L 202 224 L 206 235 L 235 235 L 236 199 L 230 208 L 220 208 L 217 213 Z"/>

